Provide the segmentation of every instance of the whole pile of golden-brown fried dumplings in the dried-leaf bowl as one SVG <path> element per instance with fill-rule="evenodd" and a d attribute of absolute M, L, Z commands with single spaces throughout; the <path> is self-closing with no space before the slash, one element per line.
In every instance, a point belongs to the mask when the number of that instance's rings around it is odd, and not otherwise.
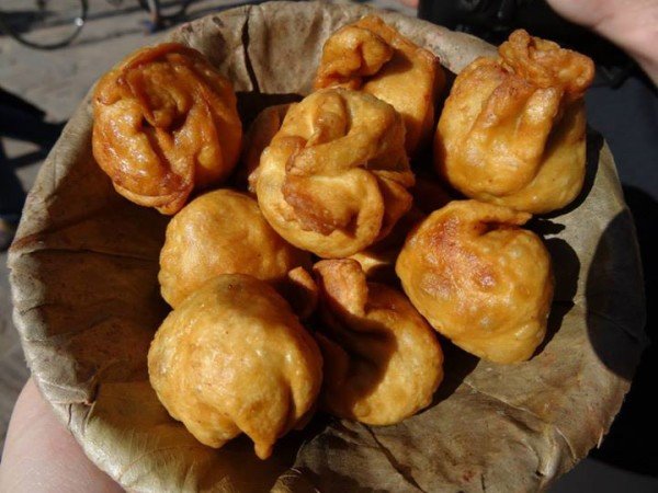
<path fill-rule="evenodd" d="M 409 419 L 443 380 L 439 334 L 498 364 L 538 351 L 554 277 L 524 226 L 580 193 L 592 62 L 524 31 L 499 54 L 457 74 L 436 122 L 439 59 L 366 16 L 243 140 L 230 81 L 192 48 L 141 49 L 99 82 L 99 165 L 173 215 L 148 368 L 201 443 L 243 433 L 266 459 L 318 410 Z"/>

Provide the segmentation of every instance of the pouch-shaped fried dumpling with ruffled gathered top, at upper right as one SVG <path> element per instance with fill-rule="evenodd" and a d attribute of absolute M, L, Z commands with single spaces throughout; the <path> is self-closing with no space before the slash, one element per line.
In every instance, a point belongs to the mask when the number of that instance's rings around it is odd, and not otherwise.
<path fill-rule="evenodd" d="M 592 60 L 515 31 L 500 58 L 478 58 L 454 82 L 434 159 L 465 195 L 543 214 L 569 204 L 585 180 L 583 93 Z"/>

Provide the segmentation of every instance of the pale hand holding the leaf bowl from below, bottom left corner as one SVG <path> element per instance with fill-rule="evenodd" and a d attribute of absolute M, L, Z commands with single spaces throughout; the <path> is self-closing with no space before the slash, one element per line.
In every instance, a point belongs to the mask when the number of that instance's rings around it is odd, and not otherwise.
<path fill-rule="evenodd" d="M 0 462 L 0 491 L 110 493 L 123 490 L 84 456 L 30 379 L 9 423 Z"/>

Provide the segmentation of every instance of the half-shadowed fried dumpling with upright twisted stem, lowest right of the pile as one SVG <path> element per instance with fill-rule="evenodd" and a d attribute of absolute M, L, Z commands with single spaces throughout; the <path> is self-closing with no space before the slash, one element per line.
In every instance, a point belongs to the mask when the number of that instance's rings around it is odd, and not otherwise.
<path fill-rule="evenodd" d="M 428 406 L 443 379 L 432 328 L 396 289 L 366 283 L 353 260 L 316 264 L 325 357 L 321 405 L 373 425 L 399 423 Z"/>

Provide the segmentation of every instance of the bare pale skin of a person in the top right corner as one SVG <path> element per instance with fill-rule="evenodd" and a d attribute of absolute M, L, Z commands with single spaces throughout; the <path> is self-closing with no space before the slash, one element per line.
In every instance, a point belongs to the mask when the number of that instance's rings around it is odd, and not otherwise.
<path fill-rule="evenodd" d="M 658 0 L 546 0 L 565 19 L 606 37 L 658 84 Z"/>

